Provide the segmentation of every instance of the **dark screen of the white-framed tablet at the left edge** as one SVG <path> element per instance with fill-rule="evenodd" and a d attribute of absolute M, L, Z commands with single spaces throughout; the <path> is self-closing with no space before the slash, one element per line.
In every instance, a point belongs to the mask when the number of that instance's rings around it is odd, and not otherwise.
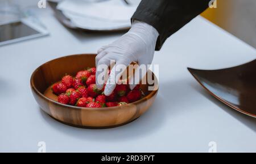
<path fill-rule="evenodd" d="M 38 31 L 35 31 L 35 29 L 28 27 L 26 24 L 20 21 L 10 24 L 3 24 L 0 25 L 0 42 L 38 33 Z"/>

